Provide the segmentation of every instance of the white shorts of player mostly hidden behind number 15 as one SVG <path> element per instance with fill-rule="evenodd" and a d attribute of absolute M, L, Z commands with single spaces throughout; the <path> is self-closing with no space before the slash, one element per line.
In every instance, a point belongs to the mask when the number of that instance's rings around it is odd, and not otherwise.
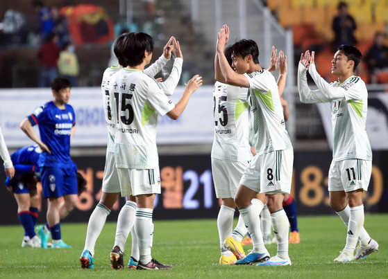
<path fill-rule="evenodd" d="M 106 151 L 103 170 L 103 192 L 120 192 L 119 175 L 115 165 L 115 152 Z"/>

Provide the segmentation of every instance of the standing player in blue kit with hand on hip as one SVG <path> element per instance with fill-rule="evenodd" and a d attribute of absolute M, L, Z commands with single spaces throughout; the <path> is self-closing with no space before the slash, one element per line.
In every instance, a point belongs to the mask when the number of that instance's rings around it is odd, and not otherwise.
<path fill-rule="evenodd" d="M 67 105 L 71 84 L 66 78 L 55 78 L 51 82 L 54 100 L 35 109 L 20 124 L 20 129 L 40 146 L 39 156 L 43 197 L 49 199 L 47 223 L 53 244 L 51 248 L 70 248 L 62 241 L 60 218 L 66 217 L 77 204 L 76 167 L 70 158 L 70 139 L 75 132 L 74 109 Z M 40 138 L 33 126 L 39 125 Z M 63 197 L 64 203 L 62 203 Z M 41 235 L 42 247 L 47 247 L 48 233 Z"/>

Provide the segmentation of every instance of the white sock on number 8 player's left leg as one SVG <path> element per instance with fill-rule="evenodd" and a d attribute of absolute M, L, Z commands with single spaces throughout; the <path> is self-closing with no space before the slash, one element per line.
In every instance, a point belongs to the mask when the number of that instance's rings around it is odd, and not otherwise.
<path fill-rule="evenodd" d="M 246 206 L 239 210 L 242 219 L 244 219 L 244 224 L 251 234 L 253 242 L 253 253 L 265 253 L 267 249 L 264 247 L 264 242 L 262 240 L 262 230 L 260 228 L 260 212 L 264 204 L 258 199 L 252 199 L 252 204 Z"/>

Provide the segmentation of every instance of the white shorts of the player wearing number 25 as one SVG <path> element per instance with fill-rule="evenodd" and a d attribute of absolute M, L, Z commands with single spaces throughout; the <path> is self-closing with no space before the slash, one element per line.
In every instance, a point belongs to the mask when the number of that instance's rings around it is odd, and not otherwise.
<path fill-rule="evenodd" d="M 212 175 L 217 199 L 234 198 L 239 180 L 249 161 L 229 162 L 212 158 Z"/>

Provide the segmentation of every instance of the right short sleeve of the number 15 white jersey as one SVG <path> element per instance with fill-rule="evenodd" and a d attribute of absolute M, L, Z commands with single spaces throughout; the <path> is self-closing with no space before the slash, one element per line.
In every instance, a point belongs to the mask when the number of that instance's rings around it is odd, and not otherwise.
<path fill-rule="evenodd" d="M 154 79 L 153 81 L 154 82 L 148 82 L 147 101 L 160 116 L 164 116 L 167 112 L 171 111 L 171 109 L 174 109 L 175 105 L 167 98 L 158 82 Z"/>

